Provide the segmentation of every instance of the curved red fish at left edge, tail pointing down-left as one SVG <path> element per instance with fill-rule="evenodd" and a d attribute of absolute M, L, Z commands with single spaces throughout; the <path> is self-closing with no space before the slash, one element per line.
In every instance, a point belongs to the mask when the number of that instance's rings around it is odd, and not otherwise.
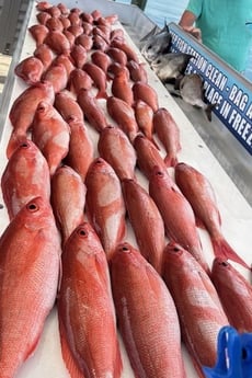
<path fill-rule="evenodd" d="M 26 133 L 32 126 L 34 114 L 41 101 L 54 103 L 55 92 L 50 82 L 38 82 L 28 87 L 13 102 L 9 114 L 13 133 L 7 146 L 8 158 L 19 147 L 20 142 L 26 140 Z"/>

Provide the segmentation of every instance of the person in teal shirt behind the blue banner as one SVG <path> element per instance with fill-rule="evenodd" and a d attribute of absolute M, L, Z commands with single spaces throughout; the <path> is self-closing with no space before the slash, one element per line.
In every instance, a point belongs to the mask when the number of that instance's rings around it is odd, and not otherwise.
<path fill-rule="evenodd" d="M 252 45 L 251 23 L 252 0 L 190 0 L 179 25 L 244 72 Z"/>

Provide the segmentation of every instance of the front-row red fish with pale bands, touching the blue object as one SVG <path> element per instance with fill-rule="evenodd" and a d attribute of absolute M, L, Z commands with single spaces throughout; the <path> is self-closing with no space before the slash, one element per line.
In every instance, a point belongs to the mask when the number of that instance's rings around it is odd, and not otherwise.
<path fill-rule="evenodd" d="M 228 325 L 218 294 L 197 261 L 176 243 L 163 253 L 163 279 L 174 299 L 184 341 L 201 378 L 217 362 L 217 337 Z"/>

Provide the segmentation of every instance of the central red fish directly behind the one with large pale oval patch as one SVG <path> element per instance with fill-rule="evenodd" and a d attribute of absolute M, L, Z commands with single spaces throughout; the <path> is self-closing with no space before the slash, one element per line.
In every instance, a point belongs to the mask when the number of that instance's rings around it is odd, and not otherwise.
<path fill-rule="evenodd" d="M 98 150 L 113 167 L 119 180 L 135 177 L 136 151 L 119 127 L 107 126 L 101 131 Z"/>

